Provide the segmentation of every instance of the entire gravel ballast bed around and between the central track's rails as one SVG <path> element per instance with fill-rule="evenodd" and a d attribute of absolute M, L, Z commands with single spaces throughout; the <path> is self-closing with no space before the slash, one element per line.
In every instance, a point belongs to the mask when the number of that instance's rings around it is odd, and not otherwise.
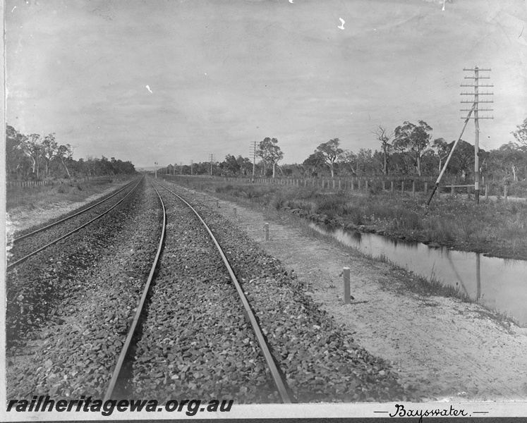
<path fill-rule="evenodd" d="M 391 367 L 322 312 L 277 259 L 178 191 L 224 247 L 293 402 L 413 399 Z M 279 403 L 212 240 L 180 200 L 160 192 L 166 241 L 125 366 L 128 383 L 116 392 L 162 402 Z M 160 222 L 157 195 L 142 183 L 123 207 L 13 272 L 8 398 L 104 396 L 157 250 Z"/>

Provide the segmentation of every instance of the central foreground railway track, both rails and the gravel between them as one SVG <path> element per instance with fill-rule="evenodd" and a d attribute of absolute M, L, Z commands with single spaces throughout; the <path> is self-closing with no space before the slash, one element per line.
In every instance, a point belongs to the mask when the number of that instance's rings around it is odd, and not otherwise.
<path fill-rule="evenodd" d="M 265 336 L 222 247 L 200 214 L 183 197 L 163 185 L 157 185 L 157 188 L 159 187 L 164 190 L 164 195 L 171 196 L 165 200 L 170 206 L 169 214 L 172 222 L 167 231 L 171 236 L 166 240 L 164 257 L 159 262 L 155 290 L 149 295 L 150 284 L 162 251 L 165 236 L 165 231 L 162 231 L 157 256 L 152 264 L 150 276 L 145 284 L 133 324 L 128 331 L 126 342 L 117 360 L 104 400 L 116 397 L 116 393 L 119 393 L 119 397 L 124 396 L 124 398 L 132 395 L 168 400 L 169 398 L 178 398 L 177 396 L 182 393 L 188 395 L 189 391 L 195 391 L 200 386 L 201 392 L 199 394 L 201 396 L 216 392 L 219 395 L 233 395 L 236 398 L 243 398 L 243 392 L 247 391 L 250 393 L 251 399 L 260 396 L 259 400 L 272 400 L 275 396 L 279 396 L 282 403 L 291 403 L 290 390 L 284 384 L 275 364 L 275 359 L 269 351 L 267 341 L 265 341 Z M 165 210 L 162 194 L 157 189 L 156 192 L 159 195 L 162 208 Z M 164 217 L 164 225 L 166 225 L 166 216 Z M 175 228 L 174 226 L 179 227 Z M 189 235 L 181 238 L 181 229 L 184 228 L 188 230 L 192 228 L 197 236 Z M 190 241 L 190 237 L 193 238 L 192 241 Z M 181 254 L 183 250 L 188 252 L 189 248 L 193 251 L 198 250 L 202 255 L 208 255 L 210 267 L 213 269 L 204 267 L 201 271 L 198 269 L 197 272 L 193 272 L 188 271 L 190 260 L 188 264 L 181 264 L 180 266 L 174 266 L 174 263 L 171 263 L 174 255 Z M 209 281 L 214 278 L 220 279 L 222 283 L 211 288 Z M 214 302 L 202 303 L 198 300 L 198 302 L 187 301 L 186 304 L 180 302 L 179 305 L 174 305 L 170 293 L 181 292 L 182 290 L 190 291 L 190 296 L 195 298 L 200 297 L 200 290 L 208 290 L 209 295 L 214 296 Z M 234 298 L 234 295 L 238 300 Z M 149 298 L 149 305 L 147 309 L 143 309 L 147 298 Z M 188 312 L 194 321 L 200 319 L 207 321 L 208 339 L 204 337 L 199 340 L 204 345 L 196 346 L 199 341 L 192 341 L 191 337 L 188 336 L 189 333 L 186 333 L 181 318 L 171 319 L 168 317 L 177 307 L 184 309 L 184 314 Z M 233 314 L 233 319 L 238 326 L 234 326 L 236 329 L 234 329 L 232 336 L 223 336 L 224 327 L 221 322 L 224 314 Z M 240 319 L 243 314 L 245 314 L 248 324 Z M 133 344 L 134 334 L 142 315 L 141 336 L 135 337 L 133 345 L 135 353 L 130 353 L 128 348 Z M 161 333 L 164 337 L 162 340 L 159 339 Z M 196 335 L 198 334 L 196 333 Z M 221 343 L 214 345 L 210 342 L 218 337 L 221 338 Z M 183 343 L 178 342 L 178 345 L 174 346 L 176 340 L 183 341 Z M 152 354 L 152 350 L 159 350 L 159 341 L 166 343 L 166 350 L 162 351 L 161 355 Z M 196 352 L 209 349 L 211 351 L 209 358 L 212 360 L 191 360 L 193 355 L 186 355 L 185 353 L 190 349 Z M 231 365 L 217 366 L 214 357 L 222 357 L 222 355 L 235 357 L 234 360 L 227 360 L 231 362 Z M 166 365 L 163 365 L 166 361 L 164 357 L 172 357 L 171 363 L 168 364 L 167 362 Z M 248 363 L 249 365 L 247 371 L 240 372 L 232 363 Z M 155 377 L 148 378 L 147 375 L 154 375 Z M 258 382 L 255 383 L 255 380 Z M 271 380 L 277 393 L 269 389 Z M 224 390 L 217 391 L 214 386 L 209 386 L 207 381 L 214 385 L 222 384 L 223 381 Z M 119 384 L 120 386 L 118 386 Z M 163 387 L 159 388 L 159 385 Z M 212 391 L 205 392 L 207 386 Z"/>

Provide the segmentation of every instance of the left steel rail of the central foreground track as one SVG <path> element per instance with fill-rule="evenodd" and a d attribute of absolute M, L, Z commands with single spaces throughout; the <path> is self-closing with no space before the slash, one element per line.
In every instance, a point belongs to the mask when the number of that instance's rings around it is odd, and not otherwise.
<path fill-rule="evenodd" d="M 163 209 L 163 227 L 162 227 L 162 233 L 161 237 L 159 238 L 159 247 L 157 247 L 157 254 L 155 256 L 154 262 L 152 264 L 152 269 L 150 269 L 150 274 L 148 275 L 147 282 L 145 285 L 145 289 L 143 290 L 143 295 L 141 295 L 141 299 L 139 301 L 139 305 L 137 309 L 135 310 L 135 316 L 133 317 L 132 325 L 130 326 L 130 329 L 128 329 L 128 334 L 126 336 L 126 341 L 124 342 L 123 349 L 121 350 L 121 354 L 119 355 L 119 358 L 117 360 L 115 369 L 113 374 L 111 374 L 110 383 L 108 385 L 107 391 L 104 395 L 104 402 L 109 400 L 111 398 L 111 394 L 114 393 L 114 388 L 119 380 L 119 374 L 121 373 L 121 368 L 123 367 L 123 362 L 126 358 L 126 354 L 128 353 L 128 348 L 130 347 L 130 344 L 132 342 L 133 335 L 135 333 L 135 329 L 138 325 L 138 321 L 141 315 L 141 312 L 143 311 L 143 306 L 145 305 L 145 300 L 147 298 L 148 290 L 150 290 L 150 283 L 152 282 L 152 278 L 154 278 L 155 269 L 157 267 L 157 262 L 159 261 L 159 256 L 161 255 L 162 247 L 163 247 L 163 241 L 164 241 L 164 235 L 165 235 L 165 229 L 166 229 L 166 209 L 164 208 L 164 202 L 161 198 L 161 195 L 159 195 L 159 191 L 157 191 L 157 188 L 155 188 L 154 184 L 152 184 L 152 188 L 155 189 L 155 192 L 157 192 L 157 196 L 159 197 L 159 201 L 161 202 L 161 207 Z"/>

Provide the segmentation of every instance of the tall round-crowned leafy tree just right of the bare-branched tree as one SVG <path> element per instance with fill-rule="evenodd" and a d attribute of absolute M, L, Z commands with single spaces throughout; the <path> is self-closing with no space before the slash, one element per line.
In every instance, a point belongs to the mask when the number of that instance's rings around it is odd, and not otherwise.
<path fill-rule="evenodd" d="M 421 158 L 430 145 L 431 131 L 432 128 L 425 121 L 418 121 L 418 125 L 406 121 L 402 126 L 395 128 L 393 145 L 399 152 L 412 159 L 419 176 L 421 176 Z"/>

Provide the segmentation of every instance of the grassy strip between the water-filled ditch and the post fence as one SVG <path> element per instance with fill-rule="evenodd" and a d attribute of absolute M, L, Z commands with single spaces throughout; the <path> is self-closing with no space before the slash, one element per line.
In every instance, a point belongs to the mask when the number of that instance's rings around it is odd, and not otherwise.
<path fill-rule="evenodd" d="M 334 193 L 313 187 L 196 179 L 178 178 L 193 188 L 212 190 L 226 198 L 243 198 L 259 207 L 301 209 L 340 225 L 364 225 L 407 240 L 527 259 L 527 202 L 485 202 L 482 198 L 480 204 L 475 204 L 465 197 L 442 195 L 425 207 L 423 195 L 392 195 L 382 190 Z"/>

